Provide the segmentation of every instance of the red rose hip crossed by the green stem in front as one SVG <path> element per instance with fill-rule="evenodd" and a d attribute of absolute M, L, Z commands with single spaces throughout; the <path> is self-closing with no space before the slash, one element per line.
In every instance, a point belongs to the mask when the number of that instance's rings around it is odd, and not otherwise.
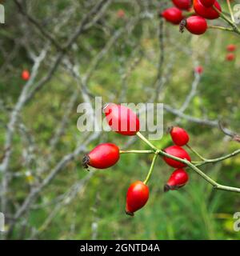
<path fill-rule="evenodd" d="M 186 159 L 189 162 L 191 161 L 190 155 L 184 150 L 181 146 L 169 146 L 164 150 L 167 154 L 171 154 L 174 157 Z M 185 167 L 186 164 L 183 162 L 178 162 L 172 158 L 163 157 L 164 161 L 174 168 L 182 168 Z"/>

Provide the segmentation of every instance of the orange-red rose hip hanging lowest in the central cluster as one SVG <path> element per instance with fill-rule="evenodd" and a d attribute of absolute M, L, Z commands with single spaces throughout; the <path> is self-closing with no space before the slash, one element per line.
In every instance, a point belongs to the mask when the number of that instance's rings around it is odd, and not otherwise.
<path fill-rule="evenodd" d="M 134 216 L 134 212 L 146 205 L 149 189 L 143 182 L 137 181 L 130 185 L 126 194 L 126 214 Z"/>

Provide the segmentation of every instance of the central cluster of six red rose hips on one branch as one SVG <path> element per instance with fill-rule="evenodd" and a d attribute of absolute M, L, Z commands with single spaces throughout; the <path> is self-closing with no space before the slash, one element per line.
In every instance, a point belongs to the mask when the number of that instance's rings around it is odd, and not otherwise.
<path fill-rule="evenodd" d="M 136 134 L 139 136 L 140 122 L 138 116 L 132 110 L 126 106 L 109 103 L 103 108 L 103 112 L 106 115 L 106 122 L 111 130 L 126 136 L 134 136 Z M 164 150 L 166 154 L 186 159 L 190 162 L 190 155 L 182 148 L 182 146 L 187 145 L 189 142 L 189 135 L 186 131 L 180 127 L 172 127 L 170 129 L 170 136 L 174 146 L 167 147 Z M 97 169 L 106 169 L 118 162 L 122 152 L 113 143 L 102 143 L 83 157 L 82 164 L 86 169 L 89 166 Z M 155 157 L 157 156 L 158 152 L 157 154 L 155 153 Z M 163 159 L 166 164 L 175 169 L 164 186 L 164 191 L 178 190 L 188 181 L 188 174 L 183 169 L 186 167 L 186 164 L 166 156 Z M 149 188 L 146 185 L 148 180 L 149 178 L 146 178 L 144 182 L 136 181 L 130 185 L 126 194 L 126 214 L 134 216 L 135 211 L 146 205 L 149 198 Z"/>

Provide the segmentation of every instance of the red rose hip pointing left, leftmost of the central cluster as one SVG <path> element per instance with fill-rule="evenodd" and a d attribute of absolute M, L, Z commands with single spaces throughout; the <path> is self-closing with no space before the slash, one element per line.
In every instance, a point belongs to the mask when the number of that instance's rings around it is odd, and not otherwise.
<path fill-rule="evenodd" d="M 82 165 L 85 168 L 92 166 L 97 169 L 106 169 L 114 166 L 119 159 L 119 148 L 112 143 L 99 144 L 86 154 L 82 159 Z"/>

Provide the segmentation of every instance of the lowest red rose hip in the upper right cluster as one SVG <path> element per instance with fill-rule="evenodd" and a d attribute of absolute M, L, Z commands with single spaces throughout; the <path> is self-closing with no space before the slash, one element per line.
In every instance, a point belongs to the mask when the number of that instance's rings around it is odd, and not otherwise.
<path fill-rule="evenodd" d="M 180 32 L 183 32 L 184 27 L 192 34 L 204 34 L 207 30 L 206 19 L 200 16 L 191 16 L 182 20 L 180 23 Z"/>

